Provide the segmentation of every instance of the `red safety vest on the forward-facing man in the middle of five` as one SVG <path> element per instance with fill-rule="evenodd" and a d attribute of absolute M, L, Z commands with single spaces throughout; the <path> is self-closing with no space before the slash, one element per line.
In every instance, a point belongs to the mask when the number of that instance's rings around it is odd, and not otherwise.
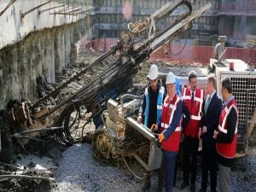
<path fill-rule="evenodd" d="M 205 91 L 201 89 L 195 90 L 194 102 L 191 103 L 191 90 L 189 88 L 183 89 L 183 101 L 189 108 L 190 120 L 185 127 L 185 135 L 191 137 L 198 137 L 199 125 L 202 116 L 202 104 L 205 97 Z"/>

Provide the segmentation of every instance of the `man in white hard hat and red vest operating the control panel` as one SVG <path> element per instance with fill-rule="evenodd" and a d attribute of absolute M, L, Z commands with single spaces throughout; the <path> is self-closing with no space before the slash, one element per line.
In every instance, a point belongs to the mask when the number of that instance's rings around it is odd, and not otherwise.
<path fill-rule="evenodd" d="M 176 79 L 172 72 L 166 77 L 167 96 L 164 101 L 161 122 L 152 126 L 160 130 L 159 142 L 163 152 L 162 167 L 164 169 L 166 192 L 172 192 L 174 172 L 181 137 L 182 100 L 176 94 Z"/>

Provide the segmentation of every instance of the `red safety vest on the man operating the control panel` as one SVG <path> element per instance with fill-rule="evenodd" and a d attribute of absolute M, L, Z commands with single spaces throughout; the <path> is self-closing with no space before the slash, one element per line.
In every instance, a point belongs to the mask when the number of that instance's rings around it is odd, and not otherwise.
<path fill-rule="evenodd" d="M 177 94 L 172 98 L 171 102 L 169 100 L 169 96 L 166 96 L 161 119 L 162 131 L 165 131 L 166 128 L 172 123 L 172 118 L 177 108 L 177 103 L 180 101 L 181 99 L 179 96 L 177 96 Z M 166 140 L 164 139 L 162 141 L 161 145 L 164 150 L 172 152 L 178 151 L 181 136 L 181 121 L 182 119 L 180 119 L 180 122 L 177 125 L 175 131 L 172 132 L 172 135 Z"/>

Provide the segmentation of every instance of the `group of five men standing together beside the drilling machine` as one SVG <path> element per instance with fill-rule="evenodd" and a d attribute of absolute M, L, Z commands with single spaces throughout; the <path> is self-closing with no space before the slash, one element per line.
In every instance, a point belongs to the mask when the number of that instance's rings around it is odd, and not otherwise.
<path fill-rule="evenodd" d="M 158 68 L 149 70 L 149 85 L 145 90 L 138 123 L 159 132 L 162 148 L 162 167 L 166 191 L 172 191 L 175 181 L 177 154 L 183 145 L 183 183 L 195 191 L 197 153 L 202 139 L 201 192 L 207 191 L 210 172 L 211 191 L 216 191 L 217 174 L 221 192 L 230 191 L 230 166 L 236 156 L 238 112 L 232 96 L 230 79 L 222 79 L 221 96 L 218 97 L 214 76 L 207 77 L 205 90 L 197 86 L 197 74 L 189 73 L 189 86 L 177 93 L 177 77 L 168 73 L 166 91 L 160 84 Z M 190 183 L 189 183 L 190 182 Z M 150 177 L 143 183 L 143 191 L 150 189 Z M 161 189 L 160 189 L 161 191 Z"/>

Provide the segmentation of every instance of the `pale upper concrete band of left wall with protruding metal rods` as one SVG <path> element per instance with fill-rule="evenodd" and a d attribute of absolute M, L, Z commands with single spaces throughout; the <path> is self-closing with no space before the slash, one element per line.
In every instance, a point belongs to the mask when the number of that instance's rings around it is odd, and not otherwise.
<path fill-rule="evenodd" d="M 8 4 L 9 0 L 1 0 L 0 1 L 0 11 L 2 11 Z M 42 3 L 48 2 L 47 0 L 22 0 L 15 1 L 9 9 L 7 9 L 3 15 L 0 16 L 0 49 L 9 45 L 15 44 L 16 42 L 22 40 L 26 37 L 30 32 L 42 30 L 44 28 L 50 28 L 54 26 L 61 26 L 65 24 L 70 24 L 76 22 L 85 17 L 85 15 L 49 15 L 49 13 L 54 13 L 54 10 L 57 12 L 63 8 L 72 7 L 71 5 L 65 5 L 65 7 L 52 9 L 49 11 L 45 11 L 44 13 L 38 15 L 38 10 L 49 9 L 58 5 L 61 5 L 61 1 L 59 2 L 51 2 L 43 7 L 36 9 L 25 15 L 23 18 L 21 17 L 21 13 L 25 13 L 26 11 L 37 7 Z M 76 1 L 69 1 L 70 3 Z M 66 3 L 64 1 L 64 3 Z M 81 3 L 78 4 L 78 6 Z M 82 6 L 82 10 L 85 10 L 86 6 Z M 72 10 L 72 9 L 70 9 Z"/>

